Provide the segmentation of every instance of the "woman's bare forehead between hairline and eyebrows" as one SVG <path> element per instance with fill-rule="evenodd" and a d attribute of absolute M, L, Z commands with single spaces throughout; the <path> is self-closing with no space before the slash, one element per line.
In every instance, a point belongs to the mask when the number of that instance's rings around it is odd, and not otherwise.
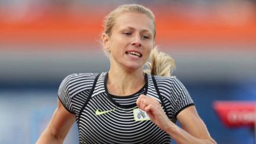
<path fill-rule="evenodd" d="M 123 28 L 135 28 L 140 31 L 150 31 L 154 33 L 155 25 L 153 20 L 146 14 L 139 12 L 124 12 L 116 17 L 113 30 Z"/>

